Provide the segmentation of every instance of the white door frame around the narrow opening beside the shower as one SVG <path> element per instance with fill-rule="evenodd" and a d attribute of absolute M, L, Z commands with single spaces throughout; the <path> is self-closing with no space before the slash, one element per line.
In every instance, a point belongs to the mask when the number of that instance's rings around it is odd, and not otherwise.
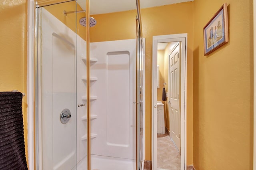
<path fill-rule="evenodd" d="M 187 39 L 188 34 L 171 34 L 162 36 L 153 36 L 152 47 L 152 170 L 157 170 L 157 44 L 163 42 L 178 42 L 181 41 L 181 58 L 180 58 L 180 107 L 181 113 L 181 170 L 186 170 L 186 101 L 187 101 Z M 184 165 L 184 168 L 183 168 Z"/>

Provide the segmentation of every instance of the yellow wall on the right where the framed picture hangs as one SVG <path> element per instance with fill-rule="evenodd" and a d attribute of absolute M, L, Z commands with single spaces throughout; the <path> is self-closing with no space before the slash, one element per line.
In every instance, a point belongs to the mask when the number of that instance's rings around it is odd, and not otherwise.
<path fill-rule="evenodd" d="M 204 56 L 203 28 L 228 3 L 230 40 Z M 194 167 L 252 170 L 252 0 L 194 0 Z"/>

